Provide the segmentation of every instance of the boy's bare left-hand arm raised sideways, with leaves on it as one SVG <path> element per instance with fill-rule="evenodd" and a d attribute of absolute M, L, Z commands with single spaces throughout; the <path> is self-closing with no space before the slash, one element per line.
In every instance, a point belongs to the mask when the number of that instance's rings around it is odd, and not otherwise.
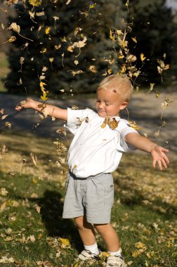
<path fill-rule="evenodd" d="M 63 108 L 58 108 L 55 105 L 49 105 L 46 103 L 41 103 L 35 101 L 32 98 L 27 98 L 25 101 L 21 101 L 16 107 L 15 110 L 22 110 L 22 108 L 32 108 L 37 110 L 45 115 L 55 117 L 56 119 L 63 119 L 67 121 L 67 110 Z"/>

